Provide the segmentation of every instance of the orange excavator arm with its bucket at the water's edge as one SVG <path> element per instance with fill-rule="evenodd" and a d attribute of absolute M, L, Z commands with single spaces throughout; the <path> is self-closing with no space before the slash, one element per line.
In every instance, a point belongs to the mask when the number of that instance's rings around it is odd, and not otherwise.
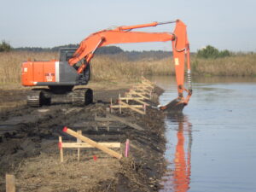
<path fill-rule="evenodd" d="M 168 23 L 176 23 L 174 32 L 131 32 L 132 29 L 144 28 L 149 26 L 158 26 Z M 189 63 L 189 40 L 187 38 L 186 26 L 181 20 L 168 22 L 153 22 L 137 26 L 119 26 L 112 30 L 103 30 L 91 34 L 85 38 L 79 48 L 73 54 L 68 62 L 71 66 L 78 61 L 84 59 L 84 64 L 78 69 L 78 73 L 83 73 L 86 65 L 93 58 L 96 49 L 108 44 L 127 44 L 127 43 L 143 43 L 143 42 L 166 42 L 172 41 L 173 58 L 176 71 L 177 92 L 178 97 L 166 106 L 161 106 L 161 110 L 168 109 L 183 109 L 183 106 L 188 104 L 189 97 L 192 95 L 190 63 Z M 184 84 L 184 69 L 185 61 L 188 70 L 189 90 L 186 90 Z M 188 92 L 186 98 L 183 97 L 183 91 Z"/>

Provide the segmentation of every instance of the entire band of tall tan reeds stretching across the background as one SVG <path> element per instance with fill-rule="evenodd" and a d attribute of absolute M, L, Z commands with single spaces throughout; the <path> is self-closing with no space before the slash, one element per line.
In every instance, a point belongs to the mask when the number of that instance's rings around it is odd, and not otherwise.
<path fill-rule="evenodd" d="M 0 85 L 20 84 L 20 66 L 23 61 L 58 59 L 51 52 L 0 53 Z M 92 80 L 137 81 L 143 75 L 174 75 L 172 58 L 147 58 L 130 61 L 124 55 L 96 55 L 92 63 Z M 199 76 L 256 76 L 256 54 L 234 55 L 219 59 L 191 58 L 192 73 Z"/>

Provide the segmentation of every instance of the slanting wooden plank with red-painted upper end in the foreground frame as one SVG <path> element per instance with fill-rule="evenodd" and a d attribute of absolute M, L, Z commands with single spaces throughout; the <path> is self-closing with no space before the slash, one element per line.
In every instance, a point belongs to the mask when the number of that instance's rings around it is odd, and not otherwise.
<path fill-rule="evenodd" d="M 73 131 L 73 130 L 67 128 L 67 127 L 65 127 L 63 129 L 63 131 L 67 132 L 67 134 L 69 134 L 69 135 L 71 135 L 73 137 L 77 137 L 77 138 L 81 139 L 83 142 L 88 143 L 88 144 L 90 144 L 91 146 L 93 146 L 95 148 L 99 148 L 100 150 L 102 150 L 106 154 L 109 154 L 109 155 L 111 155 L 113 157 L 116 157 L 117 159 L 121 159 L 122 158 L 122 154 L 119 154 L 119 153 L 113 151 L 110 148 L 107 148 L 107 147 L 105 147 L 105 146 L 103 146 L 103 145 L 101 145 L 99 143 L 96 143 L 95 141 L 91 140 L 88 137 L 84 137 L 82 135 L 79 135 L 76 131 Z"/>

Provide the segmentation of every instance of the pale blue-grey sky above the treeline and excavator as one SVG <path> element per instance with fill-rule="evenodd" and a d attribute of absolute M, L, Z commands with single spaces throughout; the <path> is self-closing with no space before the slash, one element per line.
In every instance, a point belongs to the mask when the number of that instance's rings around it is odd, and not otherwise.
<path fill-rule="evenodd" d="M 0 0 L 0 41 L 14 47 L 79 44 L 109 26 L 183 20 L 192 51 L 256 51 L 255 0 Z M 172 32 L 156 26 L 148 32 Z M 170 50 L 170 43 L 125 44 L 132 50 Z"/>

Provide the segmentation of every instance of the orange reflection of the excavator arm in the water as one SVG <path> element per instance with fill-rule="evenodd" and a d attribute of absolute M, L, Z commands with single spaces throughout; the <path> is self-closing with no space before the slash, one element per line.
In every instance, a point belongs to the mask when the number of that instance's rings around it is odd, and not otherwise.
<path fill-rule="evenodd" d="M 175 153 L 172 153 L 173 157 L 166 157 L 171 160 L 172 171 L 163 183 L 164 189 L 161 191 L 186 192 L 189 190 L 191 175 L 192 125 L 183 113 L 168 114 L 167 121 L 172 122 L 172 126 L 177 125 L 177 144 Z"/>

